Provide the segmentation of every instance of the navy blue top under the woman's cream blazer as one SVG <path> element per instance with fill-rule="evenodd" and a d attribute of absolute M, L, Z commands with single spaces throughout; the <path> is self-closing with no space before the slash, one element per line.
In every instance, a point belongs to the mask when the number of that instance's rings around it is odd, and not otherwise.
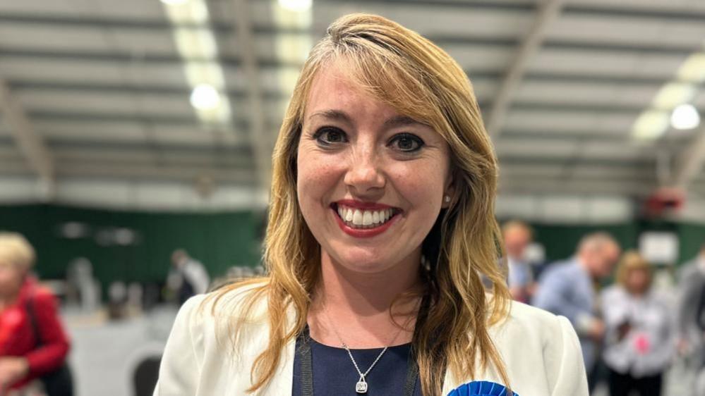
<path fill-rule="evenodd" d="M 355 384 L 360 379 L 360 375 L 345 349 L 329 347 L 313 339 L 310 340 L 314 395 L 361 396 L 355 392 Z M 301 354 L 298 353 L 300 347 L 300 341 L 297 340 L 292 396 L 301 396 Z M 388 348 L 366 376 L 368 390 L 364 395 L 404 395 L 410 351 L 411 343 Z M 350 349 L 350 352 L 360 367 L 360 371 L 364 373 L 377 359 L 382 348 Z M 422 396 L 418 378 L 413 395 Z"/>

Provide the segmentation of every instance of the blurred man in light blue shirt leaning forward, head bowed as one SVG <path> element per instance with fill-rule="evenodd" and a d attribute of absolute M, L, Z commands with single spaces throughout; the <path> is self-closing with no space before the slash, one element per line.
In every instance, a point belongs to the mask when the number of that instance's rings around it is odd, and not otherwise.
<path fill-rule="evenodd" d="M 607 233 L 586 235 L 575 256 L 546 269 L 532 300 L 536 307 L 565 316 L 572 323 L 580 338 L 591 389 L 598 380 L 599 348 L 605 335 L 597 290 L 619 257 L 620 247 L 613 237 Z"/>

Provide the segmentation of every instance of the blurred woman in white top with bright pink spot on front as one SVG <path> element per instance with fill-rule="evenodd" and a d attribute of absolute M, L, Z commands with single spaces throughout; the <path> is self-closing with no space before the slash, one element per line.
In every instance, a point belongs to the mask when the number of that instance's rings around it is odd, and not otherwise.
<path fill-rule="evenodd" d="M 611 396 L 660 396 L 663 373 L 673 361 L 673 307 L 668 296 L 652 290 L 652 271 L 639 253 L 627 252 L 617 266 L 617 283 L 601 295 Z"/>

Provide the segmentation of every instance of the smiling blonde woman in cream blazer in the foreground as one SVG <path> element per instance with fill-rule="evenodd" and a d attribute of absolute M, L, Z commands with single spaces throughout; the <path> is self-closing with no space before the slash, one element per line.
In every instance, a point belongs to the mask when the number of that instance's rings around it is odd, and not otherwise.
<path fill-rule="evenodd" d="M 269 276 L 186 303 L 155 395 L 587 395 L 565 318 L 510 303 L 496 178 L 457 63 L 385 18 L 339 18 L 279 132 Z"/>

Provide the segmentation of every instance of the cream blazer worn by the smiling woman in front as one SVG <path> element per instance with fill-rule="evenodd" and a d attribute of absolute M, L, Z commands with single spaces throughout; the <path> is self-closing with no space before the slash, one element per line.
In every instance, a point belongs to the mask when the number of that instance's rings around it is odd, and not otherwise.
<path fill-rule="evenodd" d="M 232 347 L 217 340 L 218 326 L 225 325 L 215 321 L 212 303 L 200 307 L 204 298 L 192 297 L 179 310 L 164 349 L 154 396 L 251 395 L 246 393 L 251 386 L 250 369 L 267 345 L 267 321 L 248 324 L 233 354 Z M 218 304 L 216 316 L 223 311 L 238 312 L 239 298 Z M 258 311 L 264 314 L 265 307 L 260 303 Z M 566 318 L 512 302 L 509 318 L 490 328 L 490 334 L 507 366 L 512 390 L 519 396 L 588 396 L 580 344 Z M 291 395 L 295 345 L 296 340 L 289 342 L 275 377 L 255 395 Z M 501 383 L 491 369 L 476 378 L 453 378 L 449 371 L 443 395 L 471 380 Z"/>

